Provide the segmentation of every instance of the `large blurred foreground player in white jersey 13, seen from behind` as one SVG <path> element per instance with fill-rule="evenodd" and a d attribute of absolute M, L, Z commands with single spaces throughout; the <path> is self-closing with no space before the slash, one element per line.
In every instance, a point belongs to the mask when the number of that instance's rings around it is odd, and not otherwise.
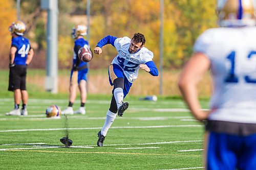
<path fill-rule="evenodd" d="M 256 167 L 255 1 L 218 1 L 219 25 L 199 36 L 179 87 L 191 113 L 206 120 L 205 169 Z M 210 69 L 214 92 L 203 111 L 197 85 Z"/>

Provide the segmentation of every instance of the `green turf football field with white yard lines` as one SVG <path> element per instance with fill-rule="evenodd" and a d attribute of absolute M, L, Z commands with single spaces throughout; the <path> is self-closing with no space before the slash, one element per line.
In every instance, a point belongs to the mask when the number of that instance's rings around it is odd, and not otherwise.
<path fill-rule="evenodd" d="M 46 118 L 45 110 L 52 104 L 65 109 L 67 99 L 29 99 L 28 116 L 6 116 L 13 99 L 1 98 L 1 169 L 203 169 L 204 127 L 181 99 L 125 99 L 129 109 L 97 147 L 110 99 L 89 97 L 86 115 L 68 115 L 73 144 L 65 148 L 59 141 L 65 117 Z M 201 103 L 207 108 L 207 101 Z"/>

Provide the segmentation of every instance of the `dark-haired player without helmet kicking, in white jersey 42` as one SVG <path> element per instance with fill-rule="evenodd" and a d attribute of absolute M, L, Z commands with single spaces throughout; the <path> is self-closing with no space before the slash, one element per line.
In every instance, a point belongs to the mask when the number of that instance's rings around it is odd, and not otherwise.
<path fill-rule="evenodd" d="M 122 116 L 129 107 L 129 103 L 123 103 L 123 99 L 137 79 L 139 68 L 149 72 L 152 76 L 158 76 L 157 67 L 152 60 L 154 55 L 144 47 L 145 42 L 145 37 L 141 33 L 135 33 L 132 39 L 108 35 L 101 39 L 94 48 L 94 53 L 100 55 L 102 46 L 111 44 L 118 52 L 109 67 L 109 80 L 114 88 L 110 108 L 106 112 L 105 124 L 98 132 L 98 147 L 103 146 L 106 133 L 114 122 L 116 115 Z"/>

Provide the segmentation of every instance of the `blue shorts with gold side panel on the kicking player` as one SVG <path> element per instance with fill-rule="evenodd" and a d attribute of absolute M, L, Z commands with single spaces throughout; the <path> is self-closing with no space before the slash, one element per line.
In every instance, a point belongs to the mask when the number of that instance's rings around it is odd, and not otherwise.
<path fill-rule="evenodd" d="M 123 88 L 123 99 L 128 94 L 130 88 L 133 83 L 129 82 L 127 78 L 124 76 L 122 68 L 117 64 L 110 64 L 109 67 L 109 81 L 110 85 L 113 86 L 113 82 L 117 78 L 124 78 L 124 88 Z M 114 89 L 112 90 L 112 94 L 114 93 Z"/>

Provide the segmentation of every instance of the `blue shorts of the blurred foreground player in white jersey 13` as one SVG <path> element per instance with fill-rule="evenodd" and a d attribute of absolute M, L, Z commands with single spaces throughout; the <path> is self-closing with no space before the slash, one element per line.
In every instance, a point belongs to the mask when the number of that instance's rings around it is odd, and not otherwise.
<path fill-rule="evenodd" d="M 206 131 L 205 169 L 255 169 L 256 134 L 231 135 Z"/>

